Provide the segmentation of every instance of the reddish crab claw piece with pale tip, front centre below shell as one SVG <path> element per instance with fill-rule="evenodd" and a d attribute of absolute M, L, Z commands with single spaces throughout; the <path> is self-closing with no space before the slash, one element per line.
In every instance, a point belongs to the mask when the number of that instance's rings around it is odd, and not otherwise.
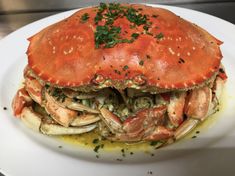
<path fill-rule="evenodd" d="M 105 108 L 100 109 L 102 119 L 114 134 L 108 138 L 134 142 L 140 140 L 162 140 L 173 135 L 173 131 L 160 126 L 164 121 L 166 106 L 143 109 L 135 116 L 128 117 L 123 123 Z"/>

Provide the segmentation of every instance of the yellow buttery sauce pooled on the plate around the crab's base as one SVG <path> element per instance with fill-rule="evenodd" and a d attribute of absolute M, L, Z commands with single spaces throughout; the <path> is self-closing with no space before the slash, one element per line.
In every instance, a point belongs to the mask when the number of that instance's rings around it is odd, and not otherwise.
<path fill-rule="evenodd" d="M 192 139 L 199 137 L 203 131 L 210 129 L 220 117 L 221 112 L 223 112 L 224 107 L 226 106 L 227 94 L 224 91 L 223 96 L 220 100 L 219 111 L 215 114 L 209 116 L 205 121 L 200 123 L 195 129 L 193 129 L 188 135 L 186 135 L 181 140 Z M 151 142 L 139 142 L 128 144 L 124 142 L 111 142 L 109 140 L 101 140 L 101 137 L 96 132 L 89 132 L 80 135 L 64 135 L 58 136 L 57 139 L 77 147 L 83 147 L 88 150 L 94 150 L 97 145 L 102 146 L 100 149 L 104 151 L 142 151 L 146 153 L 151 153 L 151 151 L 156 148 L 157 145 L 150 145 Z M 94 143 L 94 139 L 99 139 L 99 142 Z"/>

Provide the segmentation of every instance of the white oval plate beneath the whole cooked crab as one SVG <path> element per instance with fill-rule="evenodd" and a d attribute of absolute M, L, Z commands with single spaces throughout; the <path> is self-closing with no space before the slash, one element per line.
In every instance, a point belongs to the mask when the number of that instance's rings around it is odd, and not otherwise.
<path fill-rule="evenodd" d="M 220 40 L 223 64 L 228 74 L 224 108 L 196 139 L 184 140 L 158 150 L 155 156 L 137 154 L 115 160 L 116 154 L 101 155 L 71 147 L 36 134 L 12 116 L 12 97 L 26 65 L 27 38 L 75 11 L 68 11 L 29 24 L 0 41 L 0 170 L 7 176 L 112 175 L 182 176 L 234 175 L 235 171 L 235 26 L 219 18 L 183 8 L 161 6 L 207 29 Z M 203 63 L 202 63 L 203 64 Z M 3 110 L 7 107 L 8 110 Z M 152 174 L 149 172 L 151 171 Z"/>

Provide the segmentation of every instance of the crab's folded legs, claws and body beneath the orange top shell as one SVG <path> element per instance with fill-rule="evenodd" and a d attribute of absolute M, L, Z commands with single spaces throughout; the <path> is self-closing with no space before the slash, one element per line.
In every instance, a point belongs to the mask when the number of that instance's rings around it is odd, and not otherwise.
<path fill-rule="evenodd" d="M 27 70 L 27 69 L 26 69 Z M 13 101 L 16 116 L 47 135 L 96 130 L 112 141 L 178 140 L 218 110 L 223 69 L 203 86 L 186 91 L 152 93 L 112 87 L 82 92 L 58 88 L 25 73 L 24 87 Z"/>

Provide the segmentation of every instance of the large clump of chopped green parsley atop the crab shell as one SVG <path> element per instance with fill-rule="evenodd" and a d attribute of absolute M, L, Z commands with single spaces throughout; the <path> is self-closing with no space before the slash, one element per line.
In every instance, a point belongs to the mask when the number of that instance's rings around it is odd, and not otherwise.
<path fill-rule="evenodd" d="M 142 9 L 141 9 L 142 10 Z M 149 15 L 141 13 L 139 9 L 133 7 L 123 6 L 120 3 L 100 3 L 97 7 L 96 16 L 94 22 L 97 25 L 95 34 L 95 48 L 112 48 L 118 43 L 132 43 L 138 39 L 140 34 L 155 35 L 148 32 L 152 27 L 152 22 L 149 21 Z M 158 15 L 153 14 L 153 18 Z M 127 31 L 122 31 L 120 26 L 115 26 L 114 22 L 118 18 L 126 18 L 130 22 L 130 29 L 134 29 L 137 26 L 141 26 L 143 31 L 138 33 L 132 33 L 131 38 L 124 38 L 121 36 Z M 87 13 L 82 16 L 82 21 L 89 19 Z M 99 23 L 102 21 L 102 24 Z M 155 36 L 157 39 L 163 38 L 163 34 L 159 33 Z"/>

